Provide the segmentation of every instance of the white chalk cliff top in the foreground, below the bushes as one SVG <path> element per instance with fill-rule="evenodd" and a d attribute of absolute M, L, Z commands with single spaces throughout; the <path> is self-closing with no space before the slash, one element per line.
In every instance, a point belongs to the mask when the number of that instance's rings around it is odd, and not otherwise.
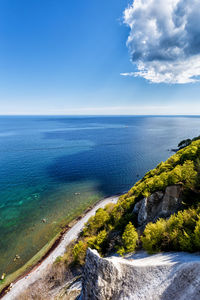
<path fill-rule="evenodd" d="M 101 258 L 88 249 L 81 300 L 200 299 L 200 256 L 143 253 L 132 258 Z"/>

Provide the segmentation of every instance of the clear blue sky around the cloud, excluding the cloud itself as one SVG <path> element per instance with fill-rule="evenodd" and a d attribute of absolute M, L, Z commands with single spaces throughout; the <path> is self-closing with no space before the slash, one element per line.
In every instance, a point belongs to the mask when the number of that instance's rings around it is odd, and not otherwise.
<path fill-rule="evenodd" d="M 156 83 L 161 74 L 150 77 L 146 60 L 145 75 L 132 76 L 140 41 L 126 45 L 135 20 L 129 7 L 123 23 L 128 4 L 1 0 L 0 114 L 199 114 L 198 82 Z"/>

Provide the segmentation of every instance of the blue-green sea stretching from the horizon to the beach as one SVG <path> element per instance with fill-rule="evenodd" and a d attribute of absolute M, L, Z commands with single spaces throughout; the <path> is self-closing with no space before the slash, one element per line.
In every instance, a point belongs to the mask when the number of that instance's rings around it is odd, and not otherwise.
<path fill-rule="evenodd" d="M 0 274 L 89 205 L 126 192 L 199 129 L 200 117 L 0 117 Z"/>

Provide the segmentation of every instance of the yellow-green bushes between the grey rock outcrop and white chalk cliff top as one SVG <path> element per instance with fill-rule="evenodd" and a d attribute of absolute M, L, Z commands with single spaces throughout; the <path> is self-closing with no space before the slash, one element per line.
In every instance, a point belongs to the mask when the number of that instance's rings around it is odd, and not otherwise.
<path fill-rule="evenodd" d="M 143 248 L 149 253 L 200 249 L 200 209 L 188 209 L 147 224 L 142 236 Z"/>

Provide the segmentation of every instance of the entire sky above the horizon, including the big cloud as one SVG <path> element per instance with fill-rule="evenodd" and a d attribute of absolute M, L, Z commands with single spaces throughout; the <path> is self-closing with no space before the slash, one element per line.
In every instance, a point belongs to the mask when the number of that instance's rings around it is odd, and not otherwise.
<path fill-rule="evenodd" d="M 0 114 L 200 114 L 197 0 L 1 0 Z"/>

